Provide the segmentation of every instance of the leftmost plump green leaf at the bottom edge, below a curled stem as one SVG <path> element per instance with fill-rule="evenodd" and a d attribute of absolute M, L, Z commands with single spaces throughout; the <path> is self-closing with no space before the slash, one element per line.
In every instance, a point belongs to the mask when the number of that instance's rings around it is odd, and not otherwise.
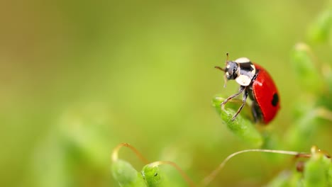
<path fill-rule="evenodd" d="M 142 174 L 126 161 L 117 159 L 112 164 L 111 171 L 121 187 L 146 187 Z"/>

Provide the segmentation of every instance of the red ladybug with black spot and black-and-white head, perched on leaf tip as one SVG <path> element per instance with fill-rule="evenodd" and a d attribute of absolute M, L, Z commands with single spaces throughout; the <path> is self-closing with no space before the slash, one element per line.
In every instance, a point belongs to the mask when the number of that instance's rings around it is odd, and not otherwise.
<path fill-rule="evenodd" d="M 226 55 L 226 67 L 215 68 L 225 72 L 224 87 L 226 87 L 226 82 L 228 80 L 233 79 L 240 84 L 240 89 L 238 90 L 238 93 L 226 98 L 226 100 L 221 103 L 221 108 L 224 108 L 225 104 L 232 98 L 243 93 L 243 103 L 233 116 L 232 121 L 236 119 L 236 116 L 240 113 L 243 106 L 245 106 L 245 101 L 247 101 L 249 96 L 253 101 L 251 104 L 251 111 L 255 122 L 264 124 L 270 123 L 280 110 L 280 96 L 272 77 L 264 68 L 251 62 L 246 57 L 241 57 L 234 61 L 228 61 L 228 54 Z"/>

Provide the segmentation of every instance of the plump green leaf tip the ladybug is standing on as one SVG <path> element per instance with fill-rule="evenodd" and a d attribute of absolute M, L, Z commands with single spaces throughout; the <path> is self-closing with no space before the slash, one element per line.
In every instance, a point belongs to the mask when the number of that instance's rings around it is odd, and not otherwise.
<path fill-rule="evenodd" d="M 223 124 L 227 126 L 231 132 L 240 137 L 243 141 L 247 142 L 253 147 L 260 147 L 263 142 L 262 135 L 255 128 L 253 120 L 250 118 L 249 107 L 245 106 L 243 110 L 238 114 L 235 120 L 232 121 L 233 115 L 236 113 L 242 101 L 238 99 L 232 99 L 229 101 L 225 109 L 222 110 L 220 104 L 225 100 L 221 96 L 215 96 L 213 99 L 213 105 L 216 111 L 221 116 Z"/>

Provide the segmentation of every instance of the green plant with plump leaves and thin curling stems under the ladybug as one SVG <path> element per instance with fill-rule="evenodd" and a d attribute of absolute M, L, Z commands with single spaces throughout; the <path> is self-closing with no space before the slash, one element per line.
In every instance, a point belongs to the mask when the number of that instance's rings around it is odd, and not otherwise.
<path fill-rule="evenodd" d="M 332 68 L 331 64 L 320 62 L 314 55 L 314 50 L 311 49 L 318 43 L 332 44 L 331 27 L 332 9 L 327 8 L 309 27 L 307 42 L 298 43 L 290 52 L 291 67 L 294 76 L 297 77 L 301 94 L 299 94 L 299 98 L 294 100 L 294 106 L 296 106 L 293 109 L 294 119 L 289 128 L 285 130 L 284 137 L 275 139 L 275 135 L 270 130 L 259 129 L 253 123 L 248 106 L 245 106 L 236 120 L 232 121 L 232 116 L 240 106 L 240 100 L 234 99 L 228 102 L 222 110 L 220 104 L 224 101 L 225 96 L 218 95 L 213 98 L 212 104 L 228 130 L 250 147 L 258 149 L 248 149 L 231 154 L 211 175 L 206 177 L 201 186 L 208 185 L 231 157 L 244 152 L 274 152 L 295 155 L 296 162 L 292 164 L 291 169 L 281 171 L 275 179 L 267 183 L 267 186 L 332 186 L 331 157 L 327 152 L 312 146 L 312 142 L 315 142 L 316 137 L 319 137 L 324 125 L 331 125 Z M 279 147 L 286 150 L 301 150 L 311 147 L 311 152 L 306 154 L 276 150 Z M 159 167 L 160 164 L 170 163 L 172 162 L 153 162 L 145 165 L 139 173 L 133 169 L 131 164 L 116 157 L 113 159 L 112 172 L 120 186 L 176 186 L 174 181 L 167 180 L 167 174 L 164 174 Z M 175 164 L 170 165 L 175 166 L 180 171 L 187 181 L 187 185 L 194 186 L 194 183 L 182 173 L 181 169 Z"/>

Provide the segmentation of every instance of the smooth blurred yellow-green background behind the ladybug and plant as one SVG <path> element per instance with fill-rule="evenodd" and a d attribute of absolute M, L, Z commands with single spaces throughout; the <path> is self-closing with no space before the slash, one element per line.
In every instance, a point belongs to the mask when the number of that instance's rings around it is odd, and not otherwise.
<path fill-rule="evenodd" d="M 267 128 L 282 135 L 301 94 L 289 52 L 326 6 L 309 0 L 1 4 L 0 186 L 117 186 L 110 157 L 121 142 L 150 161 L 176 162 L 198 183 L 228 154 L 250 148 L 211 106 L 215 94 L 238 89 L 234 81 L 224 89 L 214 66 L 229 52 L 231 60 L 249 57 L 268 69 L 282 110 Z M 138 171 L 144 165 L 126 149 L 120 157 Z M 213 184 L 260 186 L 287 163 L 272 165 L 259 153 L 241 155 Z"/>

